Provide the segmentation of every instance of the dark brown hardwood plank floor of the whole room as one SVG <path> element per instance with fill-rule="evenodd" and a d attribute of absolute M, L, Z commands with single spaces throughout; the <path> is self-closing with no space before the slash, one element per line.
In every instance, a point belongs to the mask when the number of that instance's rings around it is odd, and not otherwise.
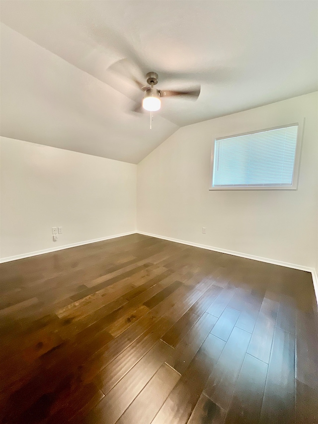
<path fill-rule="evenodd" d="M 2 424 L 317 424 L 311 274 L 134 234 L 0 265 Z"/>

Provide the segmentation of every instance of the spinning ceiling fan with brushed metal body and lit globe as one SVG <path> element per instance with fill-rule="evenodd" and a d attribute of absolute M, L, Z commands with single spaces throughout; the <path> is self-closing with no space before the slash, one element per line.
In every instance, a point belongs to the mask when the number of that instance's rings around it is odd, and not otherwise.
<path fill-rule="evenodd" d="M 133 112 L 142 113 L 144 110 L 155 112 L 161 107 L 161 97 L 172 97 L 182 96 L 185 99 L 196 100 L 199 97 L 201 85 L 196 85 L 191 89 L 187 90 L 159 90 L 154 86 L 158 84 L 158 74 L 156 72 L 148 72 L 146 75 L 147 84 L 141 83 L 139 80 L 142 79 L 140 76 L 136 78 L 135 70 L 132 70 L 132 65 L 127 59 L 122 59 L 115 62 L 109 70 L 116 72 L 121 77 L 128 78 L 133 81 L 138 88 L 143 91 L 143 97 L 138 97 L 135 100 L 135 106 Z M 140 72 L 139 72 L 140 74 Z"/>

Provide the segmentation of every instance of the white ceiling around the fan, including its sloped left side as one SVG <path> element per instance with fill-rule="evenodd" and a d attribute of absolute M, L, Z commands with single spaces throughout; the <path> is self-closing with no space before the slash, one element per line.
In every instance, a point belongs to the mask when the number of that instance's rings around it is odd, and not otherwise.
<path fill-rule="evenodd" d="M 317 1 L 1 0 L 6 137 L 138 163 L 179 126 L 318 89 Z M 128 58 L 196 102 L 130 112 Z"/>

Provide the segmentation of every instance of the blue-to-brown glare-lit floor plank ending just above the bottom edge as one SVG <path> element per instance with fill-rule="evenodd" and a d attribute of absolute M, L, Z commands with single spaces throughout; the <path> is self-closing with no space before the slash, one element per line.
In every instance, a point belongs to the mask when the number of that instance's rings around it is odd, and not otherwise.
<path fill-rule="evenodd" d="M 214 403 L 228 410 L 239 377 L 250 333 L 235 327 L 204 389 Z"/>

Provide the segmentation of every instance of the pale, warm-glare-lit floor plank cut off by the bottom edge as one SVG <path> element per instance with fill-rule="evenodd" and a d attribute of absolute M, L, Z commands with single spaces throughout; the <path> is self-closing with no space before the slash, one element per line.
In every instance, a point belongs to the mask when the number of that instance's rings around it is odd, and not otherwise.
<path fill-rule="evenodd" d="M 179 379 L 179 373 L 162 364 L 116 424 L 150 424 Z"/>

